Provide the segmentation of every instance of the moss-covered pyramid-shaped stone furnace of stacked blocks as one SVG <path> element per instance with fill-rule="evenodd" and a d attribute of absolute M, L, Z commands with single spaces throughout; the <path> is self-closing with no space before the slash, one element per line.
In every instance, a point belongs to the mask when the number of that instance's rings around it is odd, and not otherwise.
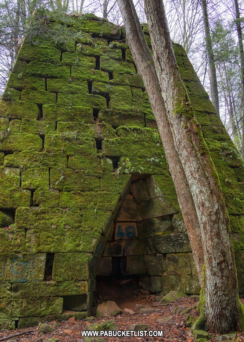
<path fill-rule="evenodd" d="M 26 38 L 0 102 L 0 328 L 94 312 L 96 276 L 111 275 L 112 258 L 146 290 L 197 293 L 123 28 L 94 15 L 50 14 L 45 25 L 67 40 Z M 243 293 L 244 168 L 184 49 L 174 50 L 225 195 Z"/>

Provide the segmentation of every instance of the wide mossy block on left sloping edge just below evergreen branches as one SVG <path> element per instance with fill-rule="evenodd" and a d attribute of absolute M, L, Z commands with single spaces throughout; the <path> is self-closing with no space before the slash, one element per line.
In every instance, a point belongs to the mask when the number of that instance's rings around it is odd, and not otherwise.
<path fill-rule="evenodd" d="M 22 44 L 18 53 L 18 58 L 25 61 L 38 61 L 45 63 L 60 63 L 61 53 L 59 50 L 50 46 L 40 46 L 31 44 Z"/>

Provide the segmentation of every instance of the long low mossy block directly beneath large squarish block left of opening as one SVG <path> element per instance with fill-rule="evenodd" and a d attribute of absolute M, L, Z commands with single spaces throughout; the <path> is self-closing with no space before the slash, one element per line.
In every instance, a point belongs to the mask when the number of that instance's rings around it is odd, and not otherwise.
<path fill-rule="evenodd" d="M 13 298 L 81 295 L 87 291 L 87 281 L 40 281 L 12 285 Z"/>

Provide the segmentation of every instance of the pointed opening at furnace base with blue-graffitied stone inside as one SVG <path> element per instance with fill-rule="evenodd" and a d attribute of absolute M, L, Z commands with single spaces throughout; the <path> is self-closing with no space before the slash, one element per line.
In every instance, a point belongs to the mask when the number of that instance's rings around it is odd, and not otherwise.
<path fill-rule="evenodd" d="M 181 241 L 181 246 L 174 242 L 180 231 L 178 206 L 160 192 L 154 180 L 152 176 L 134 176 L 119 201 L 96 267 L 98 303 L 113 300 L 122 309 L 133 310 L 138 301 L 148 305 L 163 290 L 180 289 L 180 270 L 168 275 L 166 258 L 168 253 L 188 252 L 189 247 L 186 241 L 183 245 Z M 186 263 L 190 265 L 190 260 Z"/>

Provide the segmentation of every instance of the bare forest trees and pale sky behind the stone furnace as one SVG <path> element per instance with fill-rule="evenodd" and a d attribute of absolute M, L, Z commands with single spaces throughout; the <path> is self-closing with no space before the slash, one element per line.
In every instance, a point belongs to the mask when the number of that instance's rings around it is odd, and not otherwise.
<path fill-rule="evenodd" d="M 134 0 L 146 22 L 144 0 Z M 244 53 L 242 1 L 164 1 L 171 39 L 185 48 L 235 146 L 244 159 Z M 95 13 L 114 24 L 123 20 L 117 0 L 0 0 L 0 93 L 25 34 L 38 30 L 38 13 Z M 59 42 L 68 37 L 56 37 Z"/>

